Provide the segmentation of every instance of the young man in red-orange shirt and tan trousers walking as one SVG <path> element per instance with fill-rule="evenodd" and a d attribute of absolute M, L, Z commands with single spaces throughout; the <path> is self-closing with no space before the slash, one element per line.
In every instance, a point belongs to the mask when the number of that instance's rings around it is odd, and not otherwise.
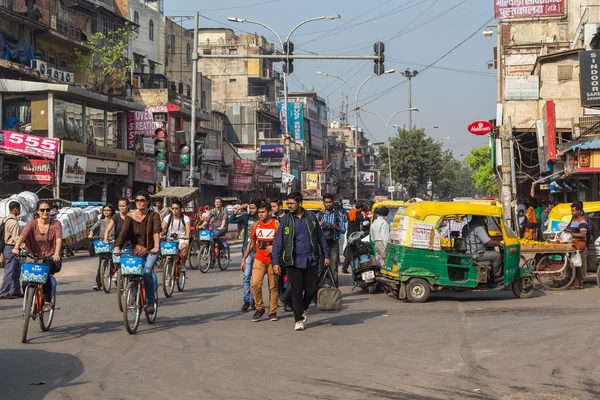
<path fill-rule="evenodd" d="M 250 243 L 242 257 L 242 270 L 245 269 L 246 257 L 256 248 L 254 255 L 254 265 L 252 266 L 252 294 L 256 304 L 256 312 L 252 317 L 253 322 L 257 322 L 265 313 L 265 302 L 262 297 L 262 285 L 267 274 L 269 283 L 269 319 L 278 321 L 277 317 L 277 286 L 279 274 L 273 271 L 271 262 L 271 251 L 273 250 L 273 241 L 279 222 L 271 217 L 271 206 L 268 203 L 258 205 L 258 221 L 252 224 L 250 230 Z"/>

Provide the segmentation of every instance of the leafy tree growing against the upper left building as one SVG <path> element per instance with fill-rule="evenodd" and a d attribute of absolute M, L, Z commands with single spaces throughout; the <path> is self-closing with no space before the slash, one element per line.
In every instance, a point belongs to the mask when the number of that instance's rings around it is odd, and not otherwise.
<path fill-rule="evenodd" d="M 81 43 L 88 49 L 87 52 L 75 49 L 77 69 L 86 74 L 86 86 L 89 89 L 107 93 L 127 81 L 133 67 L 127 57 L 127 48 L 134 38 L 135 33 L 126 23 L 108 35 L 96 32 L 88 36 Z"/>

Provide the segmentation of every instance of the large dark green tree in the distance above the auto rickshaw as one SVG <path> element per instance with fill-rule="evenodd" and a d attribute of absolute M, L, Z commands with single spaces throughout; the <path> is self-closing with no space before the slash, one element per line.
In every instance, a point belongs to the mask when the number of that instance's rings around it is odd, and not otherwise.
<path fill-rule="evenodd" d="M 384 175 L 389 171 L 387 150 L 381 146 L 378 158 Z M 452 151 L 442 151 L 442 143 L 428 137 L 424 129 L 398 129 L 390 150 L 393 179 L 411 197 L 425 197 L 429 179 L 436 198 L 450 200 L 474 194 L 470 167 L 456 160 Z"/>

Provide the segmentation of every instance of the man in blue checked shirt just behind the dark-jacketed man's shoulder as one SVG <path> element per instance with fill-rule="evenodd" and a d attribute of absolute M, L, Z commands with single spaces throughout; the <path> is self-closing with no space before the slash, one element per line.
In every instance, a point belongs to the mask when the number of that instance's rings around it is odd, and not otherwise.
<path fill-rule="evenodd" d="M 340 236 L 346 233 L 346 221 L 342 213 L 334 208 L 333 195 L 326 193 L 323 196 L 325 210 L 317 215 L 323 236 L 329 247 L 329 269 L 333 275 L 334 284 L 338 286 L 338 262 L 340 260 Z M 321 256 L 323 259 L 323 256 Z"/>

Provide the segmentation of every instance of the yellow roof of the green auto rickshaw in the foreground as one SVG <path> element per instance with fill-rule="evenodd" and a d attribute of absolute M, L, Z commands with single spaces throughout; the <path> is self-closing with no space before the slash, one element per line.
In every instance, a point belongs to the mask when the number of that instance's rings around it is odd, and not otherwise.
<path fill-rule="evenodd" d="M 409 204 L 404 215 L 424 220 L 429 215 L 455 216 L 455 215 L 482 215 L 486 217 L 502 217 L 502 206 L 499 203 L 480 204 L 473 202 L 438 202 L 425 201 Z"/>

